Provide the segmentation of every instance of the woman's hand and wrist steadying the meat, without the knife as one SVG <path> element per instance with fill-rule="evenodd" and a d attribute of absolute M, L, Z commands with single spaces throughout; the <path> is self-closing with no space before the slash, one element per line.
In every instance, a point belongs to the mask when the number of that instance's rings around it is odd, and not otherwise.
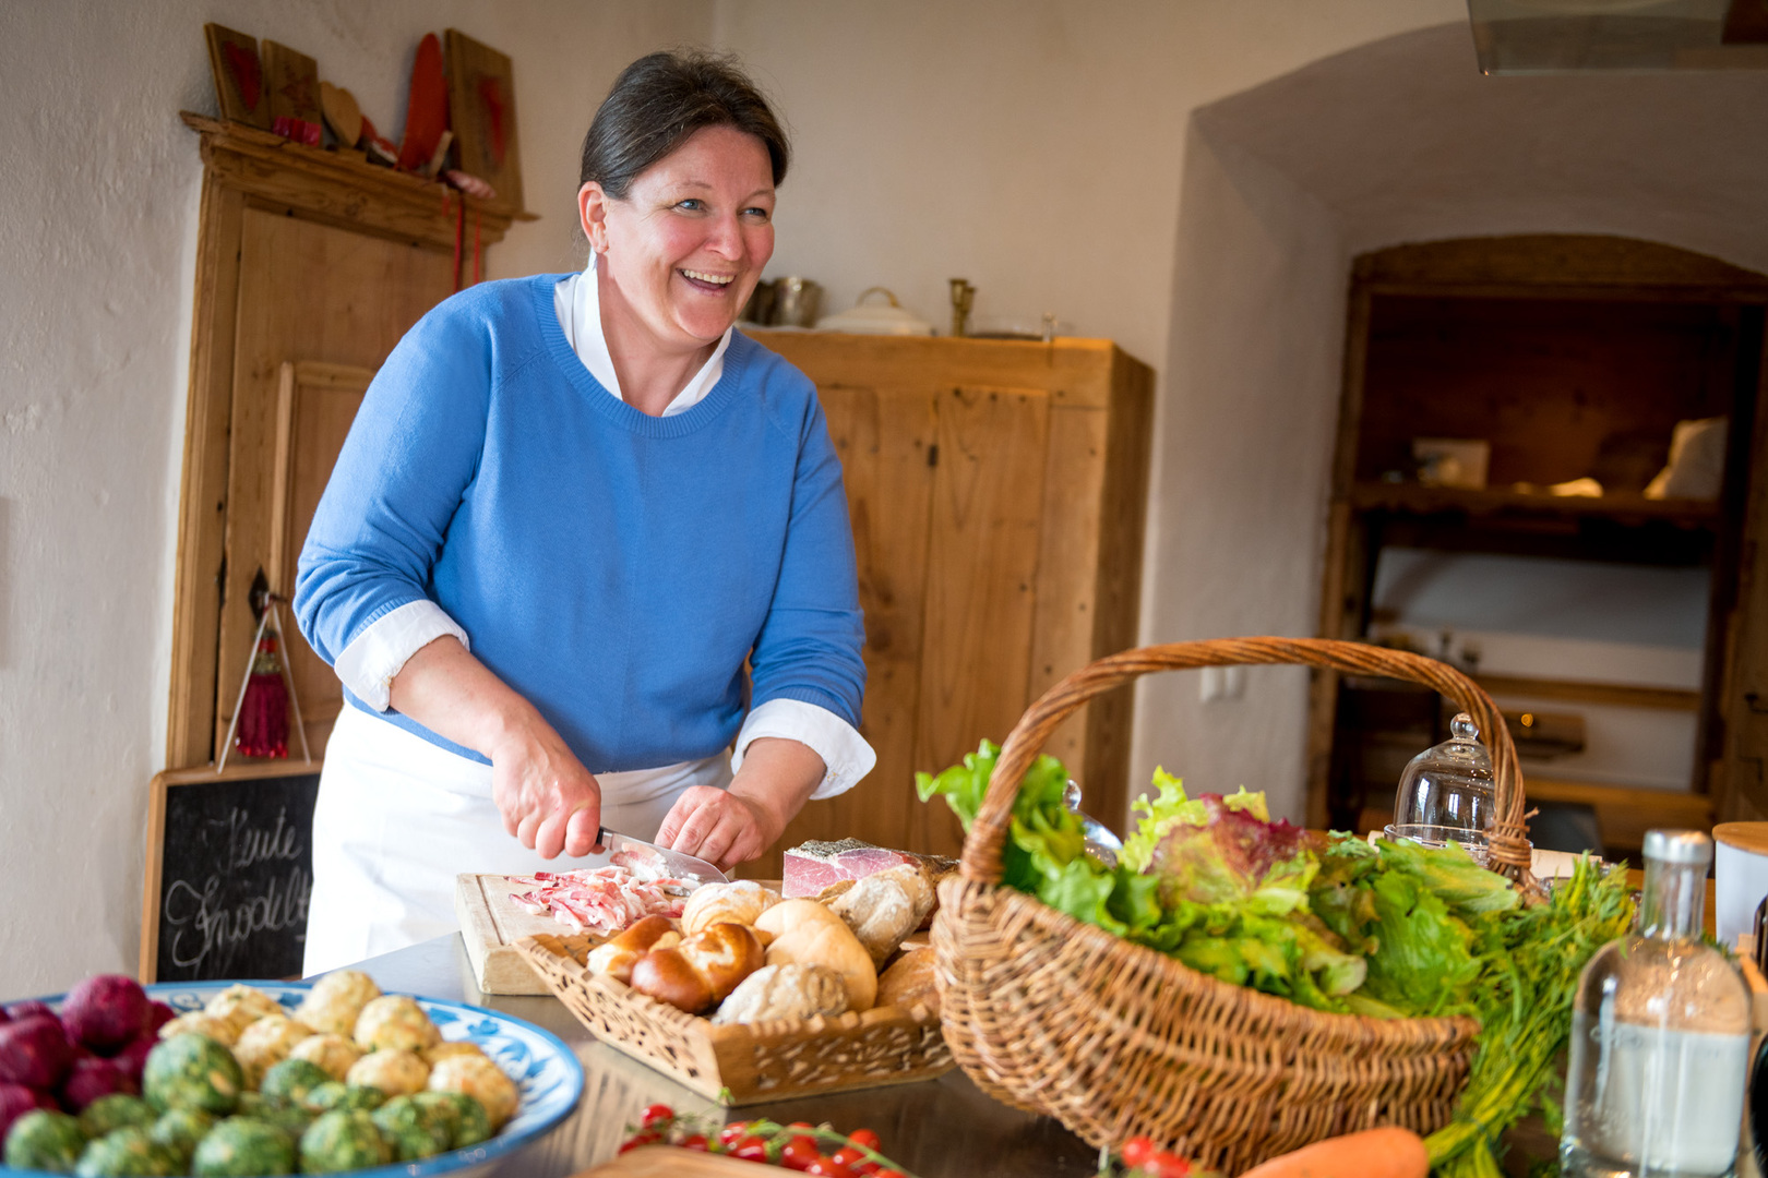
<path fill-rule="evenodd" d="M 658 846 L 697 855 L 718 867 L 760 858 L 827 770 L 796 740 L 764 736 L 750 744 L 728 789 L 691 786 L 658 828 Z"/>

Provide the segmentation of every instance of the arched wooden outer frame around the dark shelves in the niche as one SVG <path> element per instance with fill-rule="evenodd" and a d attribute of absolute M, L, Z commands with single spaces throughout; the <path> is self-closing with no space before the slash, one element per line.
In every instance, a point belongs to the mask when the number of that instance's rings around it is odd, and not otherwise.
<path fill-rule="evenodd" d="M 1335 440 L 1331 489 L 1326 512 L 1326 558 L 1321 570 L 1319 636 L 1354 638 L 1356 622 L 1367 602 L 1367 586 L 1349 581 L 1363 560 L 1356 556 L 1363 542 L 1361 514 L 1353 505 L 1356 477 L 1356 440 L 1361 426 L 1363 381 L 1368 355 L 1370 306 L 1376 295 L 1460 297 L 1460 298 L 1554 298 L 1554 300 L 1616 300 L 1616 302 L 1697 302 L 1740 304 L 1768 307 L 1768 276 L 1697 254 L 1674 245 L 1625 237 L 1598 235 L 1519 235 L 1475 237 L 1395 245 L 1360 254 L 1351 265 L 1351 290 L 1345 314 L 1344 385 L 1340 389 L 1338 436 Z M 1764 376 L 1756 389 L 1756 420 L 1752 461 L 1747 473 L 1747 503 L 1764 503 L 1768 487 L 1768 348 L 1764 348 Z M 1738 447 L 1733 454 L 1740 452 Z M 1738 569 L 1747 576 L 1747 553 L 1768 528 L 1763 509 L 1745 509 L 1738 519 L 1741 542 L 1736 546 L 1745 560 Z M 1356 556 L 1356 558 L 1353 558 Z M 1717 574 L 1715 556 L 1715 574 Z M 1722 636 L 1720 666 L 1703 671 L 1703 719 L 1724 726 L 1731 705 L 1727 687 L 1736 664 L 1736 636 L 1745 629 L 1738 609 L 1745 599 L 1731 597 L 1727 616 L 1710 618 L 1710 632 Z M 1759 632 L 1768 618 L 1752 620 Z M 1713 659 L 1708 659 L 1711 664 Z M 1314 671 L 1308 698 L 1307 735 L 1307 821 L 1324 827 L 1328 814 L 1328 788 L 1333 733 L 1337 726 L 1338 673 Z M 1722 733 L 1718 735 L 1722 738 Z M 1715 747 L 1717 740 L 1715 738 Z M 1703 733 L 1703 749 L 1708 747 Z M 1727 756 L 1731 756 L 1727 752 Z M 1701 775 L 1697 786 L 1708 781 L 1727 789 L 1722 766 Z M 1727 797 L 1715 797 L 1720 812 Z M 1768 798 L 1761 800 L 1768 809 Z"/>

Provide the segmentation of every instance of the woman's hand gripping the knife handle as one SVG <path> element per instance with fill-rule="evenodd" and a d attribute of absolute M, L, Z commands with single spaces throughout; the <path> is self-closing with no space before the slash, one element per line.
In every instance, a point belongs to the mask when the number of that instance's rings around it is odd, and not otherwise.
<path fill-rule="evenodd" d="M 589 855 L 601 830 L 601 786 L 552 724 L 534 715 L 490 751 L 492 800 L 504 830 L 555 858 Z"/>

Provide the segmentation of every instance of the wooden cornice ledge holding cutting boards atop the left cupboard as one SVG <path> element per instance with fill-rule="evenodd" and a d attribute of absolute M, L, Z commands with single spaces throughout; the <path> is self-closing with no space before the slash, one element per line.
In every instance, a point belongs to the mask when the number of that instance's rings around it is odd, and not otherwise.
<path fill-rule="evenodd" d="M 202 134 L 203 164 L 219 182 L 297 215 L 453 251 L 465 230 L 483 245 L 504 240 L 513 221 L 537 221 L 523 208 L 467 196 L 437 180 L 378 168 L 355 152 L 285 140 L 246 124 L 179 115 Z M 461 212 L 467 221 L 461 224 Z"/>

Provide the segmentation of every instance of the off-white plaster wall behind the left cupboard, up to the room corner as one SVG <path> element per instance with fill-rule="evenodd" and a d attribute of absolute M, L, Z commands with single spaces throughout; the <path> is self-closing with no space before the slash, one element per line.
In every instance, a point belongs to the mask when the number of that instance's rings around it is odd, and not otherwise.
<path fill-rule="evenodd" d="M 516 62 L 529 207 L 492 274 L 575 265 L 576 150 L 633 57 L 709 2 L 0 5 L 0 996 L 134 971 L 163 765 L 202 164 L 203 21 L 281 41 L 398 138 L 424 32 Z"/>

